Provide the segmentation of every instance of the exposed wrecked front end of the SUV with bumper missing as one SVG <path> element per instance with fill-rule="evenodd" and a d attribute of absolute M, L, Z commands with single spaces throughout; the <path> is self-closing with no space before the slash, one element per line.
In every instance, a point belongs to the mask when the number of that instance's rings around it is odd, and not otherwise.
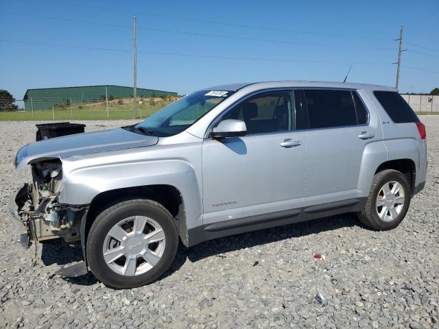
<path fill-rule="evenodd" d="M 32 164 L 32 184 L 12 195 L 10 212 L 22 245 L 62 237 L 80 241 L 80 223 L 88 205 L 59 202 L 62 193 L 62 162 L 59 159 Z"/>

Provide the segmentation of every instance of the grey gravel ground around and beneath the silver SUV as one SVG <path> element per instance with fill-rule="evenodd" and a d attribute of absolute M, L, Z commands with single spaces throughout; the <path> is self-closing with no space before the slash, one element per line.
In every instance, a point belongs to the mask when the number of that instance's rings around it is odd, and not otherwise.
<path fill-rule="evenodd" d="M 439 116 L 427 126 L 429 171 L 395 230 L 373 232 L 341 215 L 180 246 L 163 278 L 115 291 L 54 271 L 81 258 L 61 241 L 23 250 L 5 220 L 29 171 L 12 167 L 34 140 L 32 122 L 0 123 L 0 326 L 6 328 L 438 328 Z M 86 130 L 130 121 L 87 121 Z M 314 254 L 324 257 L 316 259 Z M 320 293 L 325 302 L 314 301 Z"/>

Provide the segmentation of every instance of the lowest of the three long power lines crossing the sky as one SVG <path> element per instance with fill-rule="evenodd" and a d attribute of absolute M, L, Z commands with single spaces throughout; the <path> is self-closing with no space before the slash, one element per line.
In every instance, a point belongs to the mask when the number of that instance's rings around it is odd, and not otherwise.
<path fill-rule="evenodd" d="M 31 42 L 25 40 L 7 40 L 0 39 L 0 42 L 9 42 L 25 45 L 38 45 L 45 47 L 62 47 L 62 48 L 76 48 L 76 49 L 88 49 L 88 50 L 100 50 L 100 51 L 119 51 L 129 53 L 131 50 L 128 49 L 112 49 L 112 48 L 102 48 L 102 47 L 90 47 L 83 45 L 61 45 L 61 44 L 51 44 L 43 42 Z M 138 50 L 137 53 L 149 53 L 153 55 L 168 55 L 168 56 L 184 56 L 184 57 L 195 57 L 195 58 L 216 58 L 216 59 L 226 59 L 226 60 L 252 60 L 252 61 L 269 61 L 269 62 L 302 62 L 302 63 L 324 63 L 324 64 L 357 64 L 357 65 L 387 65 L 389 62 L 346 62 L 346 61 L 333 61 L 333 60 L 292 60 L 292 59 L 281 59 L 281 58 L 254 58 L 254 57 L 241 57 L 241 56 L 219 56 L 219 55 L 204 55 L 199 53 L 174 53 L 169 51 L 141 51 Z"/>

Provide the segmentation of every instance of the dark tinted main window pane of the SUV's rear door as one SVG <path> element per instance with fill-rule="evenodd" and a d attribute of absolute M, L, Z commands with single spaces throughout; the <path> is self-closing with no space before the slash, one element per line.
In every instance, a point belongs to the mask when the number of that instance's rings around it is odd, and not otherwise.
<path fill-rule="evenodd" d="M 311 129 L 357 125 L 350 90 L 304 90 Z"/>

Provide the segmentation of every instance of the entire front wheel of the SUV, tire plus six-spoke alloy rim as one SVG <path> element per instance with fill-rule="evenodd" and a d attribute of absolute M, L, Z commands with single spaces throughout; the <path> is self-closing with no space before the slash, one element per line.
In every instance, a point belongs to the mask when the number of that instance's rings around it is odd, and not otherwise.
<path fill-rule="evenodd" d="M 176 222 L 166 208 L 148 199 L 128 199 L 96 217 L 88 232 L 86 256 L 98 280 L 115 289 L 130 289 L 161 276 L 173 263 L 177 248 Z"/>

